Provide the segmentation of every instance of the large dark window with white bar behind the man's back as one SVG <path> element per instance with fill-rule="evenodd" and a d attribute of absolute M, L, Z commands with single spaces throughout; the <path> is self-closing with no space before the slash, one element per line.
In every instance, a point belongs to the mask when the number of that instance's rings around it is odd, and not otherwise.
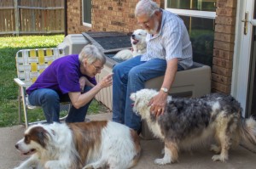
<path fill-rule="evenodd" d="M 194 61 L 212 66 L 216 0 L 166 0 L 166 10 L 183 19 Z"/>

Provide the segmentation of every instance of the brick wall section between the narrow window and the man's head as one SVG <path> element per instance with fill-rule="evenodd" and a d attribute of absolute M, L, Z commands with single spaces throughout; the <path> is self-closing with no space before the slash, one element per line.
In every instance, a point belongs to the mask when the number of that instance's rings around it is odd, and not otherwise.
<path fill-rule="evenodd" d="M 134 8 L 138 0 L 92 1 L 92 30 L 131 32 L 137 28 Z M 156 1 L 160 4 L 160 0 Z"/>

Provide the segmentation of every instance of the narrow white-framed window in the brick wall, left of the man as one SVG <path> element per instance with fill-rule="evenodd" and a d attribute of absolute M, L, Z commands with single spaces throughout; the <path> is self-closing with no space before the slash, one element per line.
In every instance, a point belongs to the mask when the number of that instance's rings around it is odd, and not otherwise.
<path fill-rule="evenodd" d="M 82 0 L 83 25 L 91 26 L 91 0 Z"/>

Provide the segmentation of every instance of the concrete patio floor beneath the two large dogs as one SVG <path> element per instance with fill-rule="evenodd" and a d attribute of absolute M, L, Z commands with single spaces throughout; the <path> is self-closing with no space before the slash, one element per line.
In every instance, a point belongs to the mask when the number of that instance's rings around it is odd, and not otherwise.
<path fill-rule="evenodd" d="M 99 115 L 88 115 L 90 120 L 106 120 L 111 119 L 111 113 L 104 113 Z M 24 126 L 15 127 L 3 127 L 0 128 L 1 139 L 0 139 L 0 169 L 11 169 L 18 166 L 21 161 L 24 161 L 26 157 L 20 156 L 19 152 L 15 149 L 15 143 L 22 138 Z M 179 154 L 179 162 L 166 165 L 157 166 L 154 164 L 155 158 L 162 157 L 161 149 L 163 144 L 157 140 L 141 140 L 143 153 L 140 161 L 138 162 L 135 169 L 238 169 L 245 168 L 251 169 L 256 167 L 256 154 L 243 147 L 239 146 L 237 149 L 230 150 L 230 160 L 226 162 L 213 162 L 213 153 L 207 148 L 202 148 L 190 152 L 181 152 Z"/>

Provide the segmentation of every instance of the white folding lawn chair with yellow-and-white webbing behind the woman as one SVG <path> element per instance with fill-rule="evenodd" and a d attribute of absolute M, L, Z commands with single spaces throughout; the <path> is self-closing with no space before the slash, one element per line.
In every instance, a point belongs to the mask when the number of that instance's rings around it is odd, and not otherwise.
<path fill-rule="evenodd" d="M 32 83 L 37 80 L 38 76 L 45 70 L 45 68 L 47 68 L 55 59 L 62 56 L 64 56 L 64 51 L 61 48 L 22 49 L 16 53 L 17 78 L 14 80 L 19 85 L 19 121 L 21 122 L 22 102 L 26 128 L 33 123 L 45 122 L 29 122 L 27 118 L 27 109 L 35 109 L 37 106 L 32 106 L 29 104 L 26 95 L 26 88 L 30 87 Z M 69 106 L 70 104 L 68 105 L 68 109 Z M 65 119 L 66 116 L 62 117 L 60 120 Z"/>

